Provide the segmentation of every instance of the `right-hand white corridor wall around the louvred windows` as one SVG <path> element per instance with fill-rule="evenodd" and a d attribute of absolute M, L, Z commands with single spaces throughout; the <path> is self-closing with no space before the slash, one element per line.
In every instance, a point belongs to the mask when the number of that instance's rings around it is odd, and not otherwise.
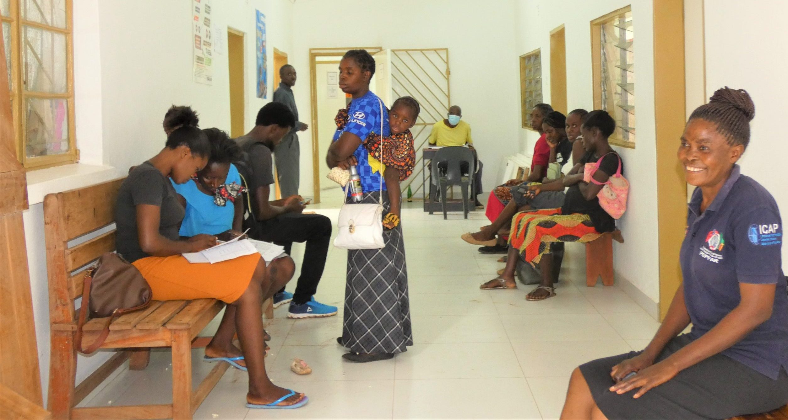
<path fill-rule="evenodd" d="M 550 101 L 550 31 L 564 24 L 567 40 L 568 109 L 593 109 L 590 21 L 631 3 L 634 20 L 634 71 L 637 85 L 637 147 L 619 151 L 631 183 L 626 214 L 617 223 L 626 245 L 614 245 L 617 279 L 636 286 L 654 303 L 660 299 L 659 255 L 656 225 L 656 131 L 654 127 L 654 53 L 652 2 L 642 0 L 598 0 L 584 2 L 517 2 L 517 55 L 541 48 L 542 91 Z M 520 127 L 518 121 L 518 127 Z M 523 149 L 533 150 L 538 134 L 520 129 Z M 656 305 L 646 310 L 653 313 Z"/>

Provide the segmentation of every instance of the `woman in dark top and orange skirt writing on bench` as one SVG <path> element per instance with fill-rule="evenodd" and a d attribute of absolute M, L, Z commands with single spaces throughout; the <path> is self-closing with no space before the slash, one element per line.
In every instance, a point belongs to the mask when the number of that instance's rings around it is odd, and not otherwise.
<path fill-rule="evenodd" d="M 266 269 L 258 253 L 214 264 L 189 263 L 181 255 L 210 248 L 217 240 L 208 234 L 180 239 L 184 208 L 168 177 L 187 182 L 205 167 L 209 155 L 206 134 L 182 126 L 168 135 L 161 152 L 132 169 L 118 191 L 117 252 L 143 275 L 154 300 L 215 298 L 229 305 L 206 347 L 206 359 L 226 361 L 249 372 L 247 407 L 300 407 L 307 403 L 306 396 L 273 385 L 266 374 L 262 330 L 262 301 L 284 286 L 293 267 L 272 263 Z M 290 270 L 290 276 L 277 274 L 278 269 Z M 236 328 L 243 356 L 232 346 Z"/>

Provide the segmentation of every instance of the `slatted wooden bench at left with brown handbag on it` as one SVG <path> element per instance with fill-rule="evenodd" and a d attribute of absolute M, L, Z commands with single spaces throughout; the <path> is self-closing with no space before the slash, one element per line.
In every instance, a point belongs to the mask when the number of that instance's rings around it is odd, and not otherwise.
<path fill-rule="evenodd" d="M 190 419 L 229 367 L 228 363 L 217 363 L 199 387 L 192 389 L 192 341 L 224 308 L 225 304 L 219 300 L 154 300 L 143 310 L 118 317 L 112 322 L 110 336 L 101 348 L 121 352 L 82 384 L 75 384 L 77 353 L 74 340 L 78 314 L 75 300 L 81 297 L 87 266 L 102 253 L 115 249 L 115 230 L 79 245 L 69 246 L 69 242 L 114 223 L 115 201 L 121 182 L 123 179 L 116 179 L 44 198 L 51 324 L 49 410 L 56 419 Z M 102 325 L 103 319 L 88 321 L 84 326 L 83 343 L 95 341 Z M 203 346 L 206 342 L 206 337 L 199 340 Z M 172 404 L 74 407 L 125 359 L 131 359 L 129 369 L 147 367 L 151 347 L 172 348 Z"/>

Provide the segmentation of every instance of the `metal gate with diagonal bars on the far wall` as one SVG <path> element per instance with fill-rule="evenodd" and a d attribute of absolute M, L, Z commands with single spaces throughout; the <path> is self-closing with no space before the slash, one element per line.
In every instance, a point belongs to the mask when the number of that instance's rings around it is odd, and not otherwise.
<path fill-rule="evenodd" d="M 416 197 L 417 191 L 426 187 L 421 181 L 422 149 L 427 146 L 433 124 L 446 117 L 450 106 L 448 49 L 391 50 L 390 71 L 392 98 L 411 96 L 422 108 L 411 128 L 416 166 L 413 175 L 402 183 L 403 196 Z"/>

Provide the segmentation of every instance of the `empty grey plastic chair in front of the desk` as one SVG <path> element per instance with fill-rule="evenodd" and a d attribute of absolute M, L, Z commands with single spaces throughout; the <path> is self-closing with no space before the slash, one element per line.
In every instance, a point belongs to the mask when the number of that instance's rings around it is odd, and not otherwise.
<path fill-rule="evenodd" d="M 446 172 L 442 172 L 438 168 L 442 162 L 446 162 Z M 468 176 L 463 176 L 463 171 L 460 165 L 466 162 L 468 164 Z M 463 146 L 446 146 L 440 148 L 432 162 L 432 183 L 435 186 L 440 186 L 440 204 L 444 211 L 444 219 L 446 219 L 446 192 L 448 186 L 460 186 L 463 193 L 463 213 L 465 218 L 468 218 L 468 196 L 469 191 L 473 184 L 474 174 L 476 173 L 476 158 L 474 153 L 467 147 Z M 433 212 L 429 212 L 433 214 Z"/>

